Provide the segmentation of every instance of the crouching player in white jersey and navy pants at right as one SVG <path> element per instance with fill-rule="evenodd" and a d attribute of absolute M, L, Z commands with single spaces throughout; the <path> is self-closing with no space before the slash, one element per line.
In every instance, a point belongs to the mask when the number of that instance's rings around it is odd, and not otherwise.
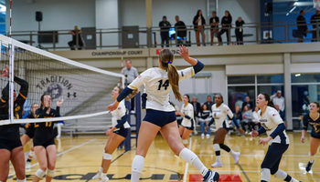
<path fill-rule="evenodd" d="M 289 147 L 289 137 L 285 133 L 283 119 L 279 116 L 269 95 L 260 94 L 257 97 L 257 106 L 260 108 L 258 114 L 261 116 L 261 128 L 258 131 L 252 129 L 251 136 L 259 136 L 267 132 L 268 137 L 262 138 L 259 144 L 263 146 L 269 144 L 267 154 L 261 164 L 261 182 L 270 181 L 271 175 L 284 181 L 299 182 L 279 169 L 283 153 Z"/>

